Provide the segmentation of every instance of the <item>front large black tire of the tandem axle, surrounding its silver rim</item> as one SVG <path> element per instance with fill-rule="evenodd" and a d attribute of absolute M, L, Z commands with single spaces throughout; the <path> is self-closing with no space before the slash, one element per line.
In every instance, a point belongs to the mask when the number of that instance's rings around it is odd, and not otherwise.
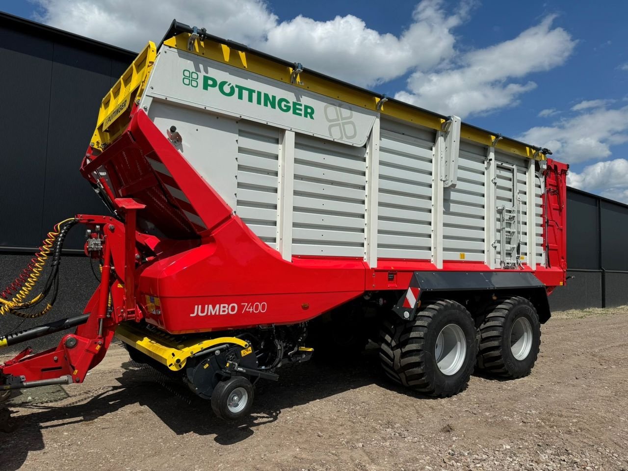
<path fill-rule="evenodd" d="M 462 330 L 465 354 L 457 371 L 445 374 L 436 362 L 436 340 L 450 324 Z M 391 317 L 382 325 L 379 358 L 386 376 L 419 393 L 440 398 L 460 393 L 474 370 L 476 355 L 474 320 L 455 301 L 434 301 L 411 322 Z"/>

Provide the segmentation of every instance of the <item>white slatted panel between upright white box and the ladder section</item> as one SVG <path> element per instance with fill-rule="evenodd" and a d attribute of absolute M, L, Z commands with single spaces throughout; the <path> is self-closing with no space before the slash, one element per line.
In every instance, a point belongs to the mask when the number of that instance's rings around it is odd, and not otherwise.
<path fill-rule="evenodd" d="M 486 152 L 460 143 L 458 183 L 443 190 L 443 260 L 484 261 Z"/>

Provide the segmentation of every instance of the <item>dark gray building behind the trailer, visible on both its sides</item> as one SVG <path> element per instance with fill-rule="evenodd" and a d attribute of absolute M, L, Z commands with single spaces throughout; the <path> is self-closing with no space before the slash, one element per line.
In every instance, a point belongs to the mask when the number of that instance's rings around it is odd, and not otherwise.
<path fill-rule="evenodd" d="M 102 97 L 135 56 L 0 13 L 0 289 L 29 263 L 53 224 L 107 212 L 78 166 Z M 551 296 L 553 308 L 628 304 L 628 206 L 570 188 L 567 217 L 569 274 L 575 278 Z M 84 234 L 73 231 L 60 298 L 46 320 L 80 314 L 95 289 L 89 259 L 80 255 Z M 0 317 L 0 332 L 38 323 Z"/>

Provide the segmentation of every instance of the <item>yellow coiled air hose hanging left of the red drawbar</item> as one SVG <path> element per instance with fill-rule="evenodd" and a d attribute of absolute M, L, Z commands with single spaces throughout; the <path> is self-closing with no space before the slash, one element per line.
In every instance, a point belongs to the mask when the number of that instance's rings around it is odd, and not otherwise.
<path fill-rule="evenodd" d="M 48 232 L 48 236 L 44 239 L 39 251 L 35 254 L 31 263 L 24 269 L 18 278 L 13 281 L 2 293 L 0 293 L 0 315 L 11 313 L 18 315 L 19 317 L 40 317 L 48 313 L 51 310 L 52 305 L 48 303 L 43 310 L 38 313 L 24 313 L 18 310 L 29 308 L 46 296 L 47 293 L 43 291 L 39 293 L 35 298 L 30 301 L 26 301 L 26 296 L 35 288 L 35 284 L 43 273 L 44 266 L 48 260 L 48 254 L 50 254 L 57 237 L 61 232 L 61 226 L 67 222 L 74 220 L 74 218 L 65 219 L 55 224 L 53 230 Z M 8 299 L 13 295 L 13 298 Z"/>

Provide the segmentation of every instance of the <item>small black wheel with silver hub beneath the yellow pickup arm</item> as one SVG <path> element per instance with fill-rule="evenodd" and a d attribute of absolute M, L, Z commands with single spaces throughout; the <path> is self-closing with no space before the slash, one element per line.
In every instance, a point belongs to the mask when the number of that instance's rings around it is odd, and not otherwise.
<path fill-rule="evenodd" d="M 212 410 L 223 420 L 233 421 L 247 416 L 253 405 L 253 385 L 243 376 L 220 381 L 212 393 Z"/>

